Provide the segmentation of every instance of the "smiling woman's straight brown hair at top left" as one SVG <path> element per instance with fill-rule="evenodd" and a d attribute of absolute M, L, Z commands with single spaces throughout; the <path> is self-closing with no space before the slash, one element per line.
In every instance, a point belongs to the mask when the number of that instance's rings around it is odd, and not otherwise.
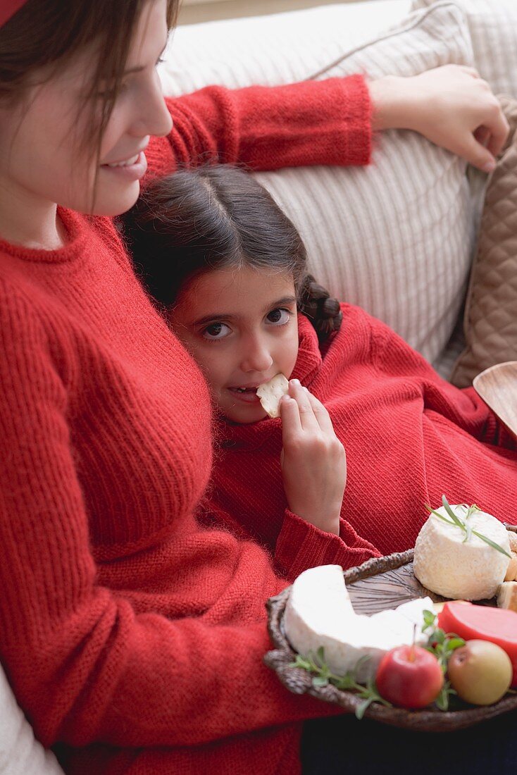
<path fill-rule="evenodd" d="M 91 129 L 81 142 L 98 152 L 148 2 L 153 0 L 27 0 L 0 28 L 0 99 L 11 105 L 21 102 L 35 84 L 36 72 L 43 82 L 50 80 L 76 53 L 92 47 L 96 60 L 84 99 L 91 108 Z M 179 0 L 167 0 L 169 28 L 176 22 L 178 5 Z"/>

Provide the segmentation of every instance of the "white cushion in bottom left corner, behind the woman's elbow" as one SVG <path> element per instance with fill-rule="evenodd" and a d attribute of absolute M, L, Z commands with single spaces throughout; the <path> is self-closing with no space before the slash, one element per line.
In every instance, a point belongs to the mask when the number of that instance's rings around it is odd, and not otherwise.
<path fill-rule="evenodd" d="M 0 667 L 0 775 L 63 775 L 56 757 L 34 738 Z"/>

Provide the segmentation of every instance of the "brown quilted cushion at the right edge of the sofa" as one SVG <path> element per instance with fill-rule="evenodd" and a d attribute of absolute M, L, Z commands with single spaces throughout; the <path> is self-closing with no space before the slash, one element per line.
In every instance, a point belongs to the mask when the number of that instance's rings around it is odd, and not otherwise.
<path fill-rule="evenodd" d="M 452 381 L 517 359 L 517 101 L 501 98 L 511 132 L 491 175 L 464 315 L 466 348 Z"/>

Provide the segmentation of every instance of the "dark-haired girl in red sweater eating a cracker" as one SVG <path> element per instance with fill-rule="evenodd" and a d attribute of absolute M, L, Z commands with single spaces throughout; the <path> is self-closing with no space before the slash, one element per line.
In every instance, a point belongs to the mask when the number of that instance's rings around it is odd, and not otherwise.
<path fill-rule="evenodd" d="M 414 546 L 424 505 L 443 493 L 515 521 L 515 439 L 472 388 L 457 390 L 386 325 L 329 298 L 253 177 L 177 172 L 129 215 L 137 270 L 219 415 L 205 504 L 215 523 L 258 539 L 290 575 L 295 557 L 350 567 Z M 256 389 L 279 372 L 292 377 L 290 396 L 281 420 L 265 419 Z M 333 534 L 316 554 L 311 525 Z"/>

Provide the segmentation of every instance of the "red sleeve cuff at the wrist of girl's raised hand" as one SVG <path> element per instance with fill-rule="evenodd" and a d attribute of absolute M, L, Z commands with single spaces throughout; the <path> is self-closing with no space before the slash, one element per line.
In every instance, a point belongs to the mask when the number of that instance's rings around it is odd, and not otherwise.
<path fill-rule="evenodd" d="M 350 541 L 350 544 L 346 543 Z M 357 536 L 352 526 L 340 519 L 339 536 L 324 532 L 297 514 L 284 512 L 274 560 L 289 580 L 318 565 L 340 565 L 344 570 L 380 556 L 371 543 Z"/>

